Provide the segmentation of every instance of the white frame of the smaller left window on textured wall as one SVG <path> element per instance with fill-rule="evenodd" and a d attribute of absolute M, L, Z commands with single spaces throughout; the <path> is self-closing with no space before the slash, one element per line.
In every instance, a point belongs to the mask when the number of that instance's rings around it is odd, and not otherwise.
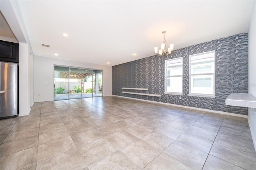
<path fill-rule="evenodd" d="M 167 63 L 168 61 L 174 61 L 174 60 L 178 60 L 181 59 L 182 60 L 182 74 L 181 75 L 169 75 L 167 76 Z M 168 95 L 183 95 L 183 57 L 178 57 L 178 58 L 172 58 L 172 59 L 166 59 L 164 61 L 164 94 L 168 94 Z M 167 83 L 168 83 L 168 78 L 170 77 L 182 77 L 182 91 L 181 92 L 172 92 L 172 91 L 167 91 Z"/>

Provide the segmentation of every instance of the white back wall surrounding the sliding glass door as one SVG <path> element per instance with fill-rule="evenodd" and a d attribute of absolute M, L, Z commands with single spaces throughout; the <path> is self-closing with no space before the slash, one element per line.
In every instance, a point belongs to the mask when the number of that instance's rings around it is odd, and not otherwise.
<path fill-rule="evenodd" d="M 53 101 L 54 100 L 54 65 L 65 65 L 72 67 L 83 67 L 88 69 L 103 70 L 103 96 L 112 95 L 112 67 L 56 59 L 50 57 L 34 56 L 34 101 Z M 46 84 L 49 83 L 49 84 Z M 40 94 L 38 96 L 38 94 Z"/>

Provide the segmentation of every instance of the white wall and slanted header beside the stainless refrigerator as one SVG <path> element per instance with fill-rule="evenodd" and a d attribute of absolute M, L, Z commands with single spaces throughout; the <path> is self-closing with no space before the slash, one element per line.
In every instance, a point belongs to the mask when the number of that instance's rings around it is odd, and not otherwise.
<path fill-rule="evenodd" d="M 33 51 L 18 1 L 0 1 L 0 10 L 19 42 L 19 116 L 24 116 L 29 114 L 30 106 L 34 103 L 30 101 L 34 91 L 30 89 L 30 81 L 34 81 L 33 77 L 30 78 L 30 58 L 34 57 Z M 5 40 L 14 41 L 10 38 Z"/>

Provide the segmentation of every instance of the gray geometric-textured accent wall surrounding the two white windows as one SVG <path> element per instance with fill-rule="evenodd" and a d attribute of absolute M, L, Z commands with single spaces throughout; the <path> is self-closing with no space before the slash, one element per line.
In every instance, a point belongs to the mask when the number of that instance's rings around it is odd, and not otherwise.
<path fill-rule="evenodd" d="M 188 96 L 188 56 L 215 50 L 215 98 Z M 164 94 L 164 61 L 183 57 L 183 95 Z M 122 87 L 148 88 L 148 91 Z M 161 94 L 161 97 L 132 95 L 122 91 Z M 225 105 L 230 93 L 248 93 L 248 33 L 200 43 L 174 50 L 169 55 L 154 55 L 112 67 L 112 94 L 176 105 L 248 114 L 245 107 Z"/>

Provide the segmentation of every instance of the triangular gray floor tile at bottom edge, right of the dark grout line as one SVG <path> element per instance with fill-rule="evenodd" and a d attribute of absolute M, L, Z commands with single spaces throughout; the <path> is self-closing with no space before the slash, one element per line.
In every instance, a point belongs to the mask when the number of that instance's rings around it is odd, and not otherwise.
<path fill-rule="evenodd" d="M 244 170 L 244 168 L 240 168 L 234 164 L 226 162 L 220 158 L 217 158 L 212 155 L 208 155 L 206 162 L 204 164 L 203 170 Z"/>

